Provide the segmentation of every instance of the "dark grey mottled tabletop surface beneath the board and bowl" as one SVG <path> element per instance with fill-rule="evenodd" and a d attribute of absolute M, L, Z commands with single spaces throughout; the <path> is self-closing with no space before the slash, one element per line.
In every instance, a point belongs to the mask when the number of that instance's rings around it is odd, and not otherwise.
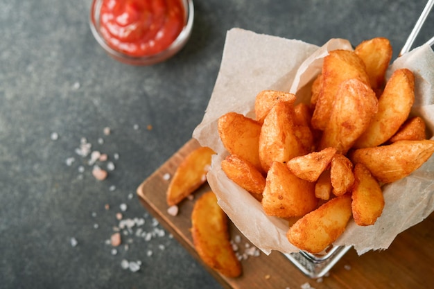
<path fill-rule="evenodd" d="M 116 255 L 105 242 L 122 203 L 124 218 L 144 218 L 144 231 L 155 228 L 135 190 L 200 123 L 226 31 L 318 45 L 383 36 L 396 57 L 425 3 L 196 1 L 184 49 L 162 64 L 132 67 L 107 57 L 94 40 L 90 0 L 0 0 L 0 288 L 220 288 L 168 234 L 148 242 L 129 234 L 128 250 L 121 246 Z M 433 31 L 431 15 L 415 45 Z M 105 136 L 105 127 L 112 134 Z M 74 152 L 83 137 L 114 162 L 103 182 Z M 141 270 L 123 270 L 123 259 L 140 260 Z"/>

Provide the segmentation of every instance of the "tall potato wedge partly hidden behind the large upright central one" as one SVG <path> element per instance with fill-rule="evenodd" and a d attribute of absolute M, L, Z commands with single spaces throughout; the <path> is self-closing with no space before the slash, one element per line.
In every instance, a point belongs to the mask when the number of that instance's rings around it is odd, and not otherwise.
<path fill-rule="evenodd" d="M 365 85 L 370 85 L 365 63 L 354 51 L 330 51 L 322 64 L 322 87 L 313 110 L 312 126 L 324 130 L 331 114 L 333 101 L 340 84 L 352 78 L 357 78 Z"/>

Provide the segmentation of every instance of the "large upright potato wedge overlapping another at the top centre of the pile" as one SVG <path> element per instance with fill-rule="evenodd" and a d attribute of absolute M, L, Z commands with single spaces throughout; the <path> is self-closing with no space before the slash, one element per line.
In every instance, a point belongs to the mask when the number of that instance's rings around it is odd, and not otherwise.
<path fill-rule="evenodd" d="M 333 147 L 342 154 L 356 143 L 378 110 L 375 92 L 357 78 L 345 80 L 336 92 L 319 149 Z"/>

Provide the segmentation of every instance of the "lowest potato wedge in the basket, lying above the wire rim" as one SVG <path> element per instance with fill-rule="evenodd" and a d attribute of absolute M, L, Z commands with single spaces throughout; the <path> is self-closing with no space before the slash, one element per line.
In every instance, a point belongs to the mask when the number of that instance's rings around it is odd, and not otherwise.
<path fill-rule="evenodd" d="M 307 213 L 289 228 L 286 237 L 296 247 L 320 253 L 345 231 L 351 218 L 351 195 L 333 198 Z"/>

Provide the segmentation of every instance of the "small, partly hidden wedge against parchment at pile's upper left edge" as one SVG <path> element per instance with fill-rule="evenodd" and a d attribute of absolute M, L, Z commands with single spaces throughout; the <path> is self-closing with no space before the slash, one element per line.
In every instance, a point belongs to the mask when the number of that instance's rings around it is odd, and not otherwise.
<path fill-rule="evenodd" d="M 257 94 L 254 100 L 254 113 L 256 120 L 263 123 L 271 107 L 281 101 L 288 101 L 289 103 L 295 102 L 295 95 L 284 91 L 276 90 L 263 90 Z"/>

